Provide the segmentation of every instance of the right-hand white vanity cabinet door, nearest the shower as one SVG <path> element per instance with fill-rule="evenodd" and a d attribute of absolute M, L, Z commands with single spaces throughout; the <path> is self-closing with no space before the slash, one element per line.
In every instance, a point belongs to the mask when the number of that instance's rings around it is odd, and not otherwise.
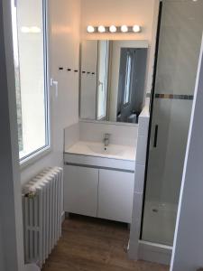
<path fill-rule="evenodd" d="M 99 170 L 99 218 L 131 223 L 133 197 L 134 173 Z"/>

